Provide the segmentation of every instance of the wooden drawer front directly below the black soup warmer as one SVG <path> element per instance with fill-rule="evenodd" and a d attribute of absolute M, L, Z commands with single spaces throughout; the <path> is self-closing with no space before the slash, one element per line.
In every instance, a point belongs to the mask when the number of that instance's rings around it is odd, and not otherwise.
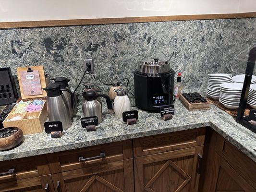
<path fill-rule="evenodd" d="M 134 139 L 134 157 L 203 145 L 205 128 L 171 132 Z"/>

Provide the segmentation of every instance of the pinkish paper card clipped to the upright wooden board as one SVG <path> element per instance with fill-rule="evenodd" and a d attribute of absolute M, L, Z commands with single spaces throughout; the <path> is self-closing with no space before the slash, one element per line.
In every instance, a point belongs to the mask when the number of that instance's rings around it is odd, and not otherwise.
<path fill-rule="evenodd" d="M 24 96 L 42 95 L 42 87 L 38 70 L 20 72 L 21 86 Z"/>

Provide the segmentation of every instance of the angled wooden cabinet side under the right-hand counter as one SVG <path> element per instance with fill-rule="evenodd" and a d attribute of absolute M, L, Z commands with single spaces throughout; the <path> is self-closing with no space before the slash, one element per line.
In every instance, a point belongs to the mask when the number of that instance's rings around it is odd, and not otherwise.
<path fill-rule="evenodd" d="M 208 139 L 200 192 L 256 192 L 256 163 L 218 133 Z"/>

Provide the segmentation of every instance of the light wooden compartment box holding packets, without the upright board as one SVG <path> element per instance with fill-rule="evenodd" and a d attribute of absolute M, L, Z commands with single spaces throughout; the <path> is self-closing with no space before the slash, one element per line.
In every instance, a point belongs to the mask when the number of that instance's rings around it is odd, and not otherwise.
<path fill-rule="evenodd" d="M 34 99 L 30 99 L 30 100 L 34 100 Z M 13 113 L 14 110 L 15 110 L 15 107 L 12 109 L 12 111 L 3 121 L 4 127 L 18 127 L 23 131 L 24 135 L 43 132 L 44 122 L 47 120 L 46 100 L 44 101 L 44 105 L 42 106 L 41 111 Z M 11 119 L 13 116 L 17 116 L 17 115 L 22 116 L 22 119 L 15 120 L 15 121 L 7 121 L 8 119 Z M 28 119 L 28 117 L 31 115 L 36 116 L 36 118 Z"/>

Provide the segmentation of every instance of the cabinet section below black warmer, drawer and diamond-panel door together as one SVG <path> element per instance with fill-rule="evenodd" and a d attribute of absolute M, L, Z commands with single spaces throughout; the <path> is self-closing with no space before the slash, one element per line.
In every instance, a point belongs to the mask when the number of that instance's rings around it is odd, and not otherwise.
<path fill-rule="evenodd" d="M 197 192 L 205 129 L 134 140 L 135 192 Z"/>

